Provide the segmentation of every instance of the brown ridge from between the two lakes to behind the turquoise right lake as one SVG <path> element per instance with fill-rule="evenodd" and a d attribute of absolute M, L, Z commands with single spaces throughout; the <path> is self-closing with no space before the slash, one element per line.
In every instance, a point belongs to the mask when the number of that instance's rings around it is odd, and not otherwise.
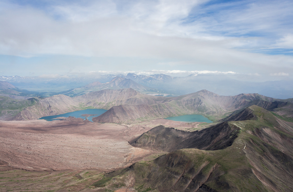
<path fill-rule="evenodd" d="M 147 106 L 145 104 L 136 105 L 131 102 L 127 104 L 128 106 L 113 106 L 113 108 L 103 115 L 93 118 L 93 121 L 100 123 L 130 123 L 186 114 L 213 115 L 215 120 L 220 120 L 227 114 L 253 105 L 253 101 L 257 100 L 260 104 L 260 101 L 277 101 L 277 99 L 259 94 L 219 96 L 207 90 L 201 90 L 196 93 L 178 97 L 160 99 L 163 100 L 158 100 L 155 104 L 148 104 Z M 277 107 L 278 106 L 281 107 L 283 105 L 277 105 Z"/>

